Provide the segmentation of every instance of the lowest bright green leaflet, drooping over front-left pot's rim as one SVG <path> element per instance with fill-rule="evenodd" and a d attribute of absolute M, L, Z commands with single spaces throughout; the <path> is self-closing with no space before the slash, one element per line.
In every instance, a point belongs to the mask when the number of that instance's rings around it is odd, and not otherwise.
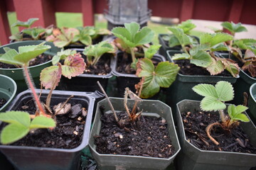
<path fill-rule="evenodd" d="M 9 124 L 1 131 L 1 143 L 6 145 L 20 140 L 29 132 L 29 128 L 21 124 Z"/>

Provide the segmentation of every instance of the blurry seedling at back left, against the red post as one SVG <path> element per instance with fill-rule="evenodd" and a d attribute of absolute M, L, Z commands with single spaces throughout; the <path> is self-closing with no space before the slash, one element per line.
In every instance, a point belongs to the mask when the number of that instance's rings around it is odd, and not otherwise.
<path fill-rule="evenodd" d="M 53 27 L 48 28 L 34 27 L 31 28 L 33 23 L 38 21 L 38 18 L 29 18 L 28 21 L 22 22 L 18 21 L 12 25 L 12 27 L 25 27 L 21 33 L 11 35 L 9 38 L 11 40 L 43 40 L 46 36 L 50 35 L 53 31 Z M 23 38 L 23 34 L 31 35 L 31 38 Z"/>

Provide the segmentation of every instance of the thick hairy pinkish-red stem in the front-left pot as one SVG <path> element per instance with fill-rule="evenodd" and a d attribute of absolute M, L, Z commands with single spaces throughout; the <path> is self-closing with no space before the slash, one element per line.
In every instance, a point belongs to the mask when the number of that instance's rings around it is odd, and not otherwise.
<path fill-rule="evenodd" d="M 30 72 L 28 71 L 27 64 L 23 64 L 23 70 L 24 70 L 23 73 L 25 74 L 25 77 L 26 77 L 26 83 L 27 83 L 29 89 L 31 89 L 31 91 L 32 91 L 33 98 L 34 98 L 34 101 L 36 103 L 37 108 L 39 109 L 41 114 L 43 114 L 44 116 L 48 117 L 48 115 L 46 115 L 46 112 L 44 111 L 43 106 L 41 105 L 41 102 L 39 101 L 39 98 L 38 98 L 38 96 L 36 94 L 36 90 L 34 88 L 33 80 L 31 79 Z"/>

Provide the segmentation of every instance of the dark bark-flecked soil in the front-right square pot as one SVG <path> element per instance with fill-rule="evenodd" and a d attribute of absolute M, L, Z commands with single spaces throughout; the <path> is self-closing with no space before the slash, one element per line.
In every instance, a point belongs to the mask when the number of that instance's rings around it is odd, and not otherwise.
<path fill-rule="evenodd" d="M 181 113 L 183 119 L 184 130 L 186 132 L 186 140 L 191 142 L 195 147 L 203 150 L 225 151 L 225 152 L 242 152 L 256 154 L 256 147 L 250 145 L 245 132 L 240 126 L 230 131 L 225 131 L 219 126 L 214 126 L 210 131 L 211 136 L 220 143 L 215 145 L 206 134 L 206 127 L 211 123 L 219 121 L 219 114 L 213 112 L 191 111 Z M 238 139 L 242 142 L 238 142 Z M 208 142 L 209 146 L 204 142 Z M 242 146 L 244 145 L 244 146 Z"/>

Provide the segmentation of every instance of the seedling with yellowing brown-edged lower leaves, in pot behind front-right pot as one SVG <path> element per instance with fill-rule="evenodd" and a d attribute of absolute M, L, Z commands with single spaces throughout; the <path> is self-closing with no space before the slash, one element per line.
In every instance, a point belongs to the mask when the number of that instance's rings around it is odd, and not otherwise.
<path fill-rule="evenodd" d="M 200 44 L 192 47 L 188 52 L 185 48 L 185 45 L 191 44 L 191 39 L 188 35 L 184 34 L 180 28 L 171 28 L 171 31 L 176 35 L 185 52 L 174 55 L 172 57 L 173 60 L 190 60 L 191 64 L 206 68 L 211 75 L 220 74 L 226 69 L 233 77 L 238 76 L 238 64 L 235 64 L 233 60 L 216 57 L 214 54 L 214 51 L 228 50 L 228 47 L 223 45 L 222 42 L 233 40 L 232 35 L 204 33 L 200 37 Z"/>

